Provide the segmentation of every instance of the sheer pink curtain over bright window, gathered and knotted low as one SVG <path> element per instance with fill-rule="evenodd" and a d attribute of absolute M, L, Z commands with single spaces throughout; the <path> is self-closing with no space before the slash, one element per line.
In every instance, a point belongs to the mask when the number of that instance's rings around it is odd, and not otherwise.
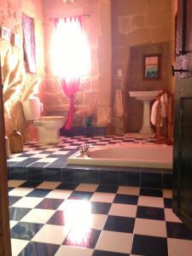
<path fill-rule="evenodd" d="M 56 19 L 55 27 L 57 33 L 60 35 L 57 40 L 63 40 L 61 41 L 63 42 L 63 46 L 60 55 L 60 59 L 62 58 L 61 67 L 63 67 L 61 87 L 70 99 L 65 129 L 71 130 L 74 113 L 74 96 L 79 90 L 80 84 L 80 67 L 78 67 L 78 64 L 82 59 L 79 60 L 77 53 L 79 51 L 79 38 L 81 36 L 81 16 Z M 62 55 L 63 53 L 64 55 Z"/>

